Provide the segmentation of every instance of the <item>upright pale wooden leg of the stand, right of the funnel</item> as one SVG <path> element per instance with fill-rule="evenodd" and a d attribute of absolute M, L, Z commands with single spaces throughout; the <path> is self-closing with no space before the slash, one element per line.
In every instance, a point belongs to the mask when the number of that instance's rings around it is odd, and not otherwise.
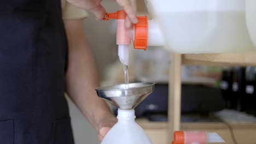
<path fill-rule="evenodd" d="M 168 83 L 168 143 L 173 140 L 173 131 L 181 124 L 181 55 L 171 53 L 170 78 Z"/>

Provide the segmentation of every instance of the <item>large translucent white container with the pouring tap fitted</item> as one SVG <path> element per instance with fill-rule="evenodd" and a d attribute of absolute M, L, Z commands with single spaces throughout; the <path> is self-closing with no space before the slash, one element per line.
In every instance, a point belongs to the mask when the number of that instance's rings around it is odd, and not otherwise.
<path fill-rule="evenodd" d="M 146 0 L 165 39 L 165 49 L 178 53 L 256 51 L 247 29 L 245 3 L 245 0 Z"/>

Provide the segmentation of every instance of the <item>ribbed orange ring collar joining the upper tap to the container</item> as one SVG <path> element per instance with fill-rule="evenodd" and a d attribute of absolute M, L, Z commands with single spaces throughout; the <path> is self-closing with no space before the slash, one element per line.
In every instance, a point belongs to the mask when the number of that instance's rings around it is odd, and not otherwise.
<path fill-rule="evenodd" d="M 134 27 L 134 41 L 135 49 L 147 50 L 148 46 L 148 17 L 137 16 L 138 23 Z"/>

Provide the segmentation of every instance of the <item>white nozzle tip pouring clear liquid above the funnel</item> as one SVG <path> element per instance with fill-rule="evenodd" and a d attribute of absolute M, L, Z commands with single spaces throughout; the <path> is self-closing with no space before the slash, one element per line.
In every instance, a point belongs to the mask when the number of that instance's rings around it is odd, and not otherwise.
<path fill-rule="evenodd" d="M 121 63 L 129 65 L 129 45 L 118 45 L 118 56 Z"/>

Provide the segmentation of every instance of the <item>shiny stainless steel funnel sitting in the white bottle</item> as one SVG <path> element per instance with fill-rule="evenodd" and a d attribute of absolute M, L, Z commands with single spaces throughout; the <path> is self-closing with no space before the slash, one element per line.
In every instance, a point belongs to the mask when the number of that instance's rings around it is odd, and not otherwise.
<path fill-rule="evenodd" d="M 153 82 L 129 83 L 96 88 L 98 97 L 122 110 L 134 109 L 142 100 L 154 91 Z"/>

